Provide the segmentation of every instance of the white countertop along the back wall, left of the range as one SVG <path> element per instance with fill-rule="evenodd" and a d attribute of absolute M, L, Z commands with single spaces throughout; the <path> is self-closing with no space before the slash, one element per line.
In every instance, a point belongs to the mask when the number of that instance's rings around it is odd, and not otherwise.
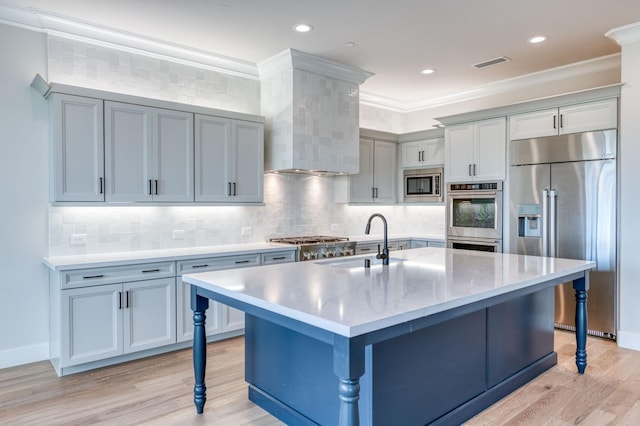
<path fill-rule="evenodd" d="M 248 253 L 297 250 L 296 246 L 275 243 L 227 244 L 218 246 L 187 247 L 163 250 L 139 250 L 75 256 L 53 256 L 43 259 L 53 270 L 119 266 L 140 262 L 161 262 L 198 259 L 206 256 L 234 256 Z"/>

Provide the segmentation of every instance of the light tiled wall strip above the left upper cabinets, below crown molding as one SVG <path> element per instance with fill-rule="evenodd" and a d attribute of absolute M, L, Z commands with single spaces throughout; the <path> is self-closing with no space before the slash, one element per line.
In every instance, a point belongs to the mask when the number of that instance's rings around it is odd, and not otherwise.
<path fill-rule="evenodd" d="M 247 114 L 260 114 L 260 82 L 67 38 L 48 38 L 49 80 Z"/>

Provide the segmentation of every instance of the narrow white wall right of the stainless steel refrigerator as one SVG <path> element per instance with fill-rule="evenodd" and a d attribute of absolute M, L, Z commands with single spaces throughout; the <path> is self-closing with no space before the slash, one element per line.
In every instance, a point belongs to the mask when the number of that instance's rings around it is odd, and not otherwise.
<path fill-rule="evenodd" d="M 618 344 L 640 350 L 640 41 L 622 46 L 620 97 L 620 324 Z"/>

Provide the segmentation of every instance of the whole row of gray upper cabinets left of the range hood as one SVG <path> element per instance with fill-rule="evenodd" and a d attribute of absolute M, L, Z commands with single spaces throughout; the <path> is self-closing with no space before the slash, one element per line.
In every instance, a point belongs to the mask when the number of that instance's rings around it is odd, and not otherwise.
<path fill-rule="evenodd" d="M 263 117 L 34 82 L 50 107 L 51 202 L 263 202 Z"/>

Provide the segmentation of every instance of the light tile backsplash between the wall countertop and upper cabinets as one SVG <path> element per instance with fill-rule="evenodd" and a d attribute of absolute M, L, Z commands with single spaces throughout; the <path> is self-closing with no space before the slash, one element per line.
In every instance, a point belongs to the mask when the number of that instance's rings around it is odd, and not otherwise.
<path fill-rule="evenodd" d="M 276 236 L 362 235 L 374 212 L 386 216 L 392 234 L 444 235 L 441 205 L 334 203 L 331 177 L 266 174 L 264 188 L 260 206 L 52 206 L 49 255 L 263 242 Z M 250 228 L 250 234 L 243 235 L 243 228 Z M 174 239 L 174 231 L 184 231 L 184 238 Z M 381 232 L 381 222 L 375 221 L 372 233 Z M 86 234 L 86 243 L 72 245 L 75 234 Z"/>

